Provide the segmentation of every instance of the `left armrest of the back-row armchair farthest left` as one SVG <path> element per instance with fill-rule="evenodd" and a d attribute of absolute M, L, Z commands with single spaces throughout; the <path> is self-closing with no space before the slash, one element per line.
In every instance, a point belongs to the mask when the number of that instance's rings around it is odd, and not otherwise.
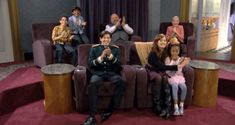
<path fill-rule="evenodd" d="M 50 40 L 36 40 L 32 44 L 34 64 L 43 67 L 52 64 L 53 45 Z"/>

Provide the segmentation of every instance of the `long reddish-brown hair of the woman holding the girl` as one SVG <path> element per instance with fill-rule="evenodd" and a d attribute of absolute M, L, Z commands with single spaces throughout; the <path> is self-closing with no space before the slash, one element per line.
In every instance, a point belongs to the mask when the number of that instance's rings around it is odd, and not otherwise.
<path fill-rule="evenodd" d="M 158 56 L 158 58 L 161 58 L 161 60 L 165 60 L 167 57 L 167 47 L 163 50 L 163 52 L 160 52 L 160 48 L 158 47 L 158 41 L 162 38 L 166 37 L 164 34 L 158 34 L 153 40 L 153 47 L 152 51 Z"/>

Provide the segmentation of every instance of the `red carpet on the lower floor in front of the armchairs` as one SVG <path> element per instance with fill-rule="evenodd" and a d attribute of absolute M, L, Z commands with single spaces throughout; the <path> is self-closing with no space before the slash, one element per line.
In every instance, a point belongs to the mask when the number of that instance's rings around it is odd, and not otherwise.
<path fill-rule="evenodd" d="M 1 125 L 79 125 L 87 115 L 70 113 L 50 115 L 44 112 L 42 101 L 18 108 L 1 116 Z M 99 115 L 96 116 L 99 124 Z M 235 101 L 219 97 L 214 108 L 190 106 L 182 117 L 164 120 L 150 109 L 117 111 L 102 125 L 235 125 Z"/>

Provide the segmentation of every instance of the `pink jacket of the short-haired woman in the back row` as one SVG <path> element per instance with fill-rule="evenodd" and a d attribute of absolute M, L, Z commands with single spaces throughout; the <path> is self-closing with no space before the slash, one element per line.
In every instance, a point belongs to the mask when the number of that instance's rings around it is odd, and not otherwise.
<path fill-rule="evenodd" d="M 176 33 L 174 32 L 174 28 L 176 28 Z M 181 43 L 184 43 L 184 28 L 182 25 L 178 26 L 168 26 L 166 31 L 166 38 L 169 39 L 177 34 L 176 37 Z"/>

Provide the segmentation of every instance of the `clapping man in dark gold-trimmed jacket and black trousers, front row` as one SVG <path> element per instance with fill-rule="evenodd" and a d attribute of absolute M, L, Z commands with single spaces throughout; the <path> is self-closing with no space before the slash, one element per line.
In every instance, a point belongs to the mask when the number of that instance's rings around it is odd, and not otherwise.
<path fill-rule="evenodd" d="M 116 45 L 110 45 L 111 33 L 103 31 L 100 33 L 101 44 L 93 45 L 88 59 L 92 77 L 88 85 L 89 117 L 82 125 L 96 125 L 95 113 L 97 110 L 97 93 L 103 81 L 109 80 L 115 86 L 109 108 L 101 114 L 101 121 L 108 119 L 112 112 L 120 105 L 125 82 L 119 74 L 120 54 Z"/>

